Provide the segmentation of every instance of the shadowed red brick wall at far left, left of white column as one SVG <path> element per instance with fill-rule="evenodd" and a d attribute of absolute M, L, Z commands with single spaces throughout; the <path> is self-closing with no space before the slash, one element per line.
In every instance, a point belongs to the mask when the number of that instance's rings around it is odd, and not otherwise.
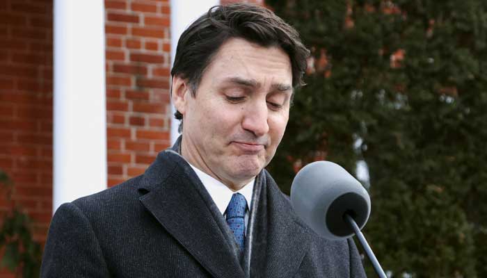
<path fill-rule="evenodd" d="M 0 213 L 20 205 L 41 243 L 52 207 L 52 0 L 0 1 Z M 12 277 L 5 270 L 0 277 Z"/>

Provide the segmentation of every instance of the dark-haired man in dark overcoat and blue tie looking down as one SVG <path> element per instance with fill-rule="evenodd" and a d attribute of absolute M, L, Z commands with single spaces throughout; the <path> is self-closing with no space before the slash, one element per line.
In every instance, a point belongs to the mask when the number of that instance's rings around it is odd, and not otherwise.
<path fill-rule="evenodd" d="M 42 277 L 365 277 L 352 240 L 319 238 L 264 167 L 308 50 L 265 8 L 211 8 L 182 34 L 182 136 L 145 174 L 63 204 Z"/>

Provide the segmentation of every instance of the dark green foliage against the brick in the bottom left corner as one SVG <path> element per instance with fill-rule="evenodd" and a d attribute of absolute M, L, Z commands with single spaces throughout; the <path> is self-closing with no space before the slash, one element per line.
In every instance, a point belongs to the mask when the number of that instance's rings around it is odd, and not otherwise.
<path fill-rule="evenodd" d="M 0 170 L 0 184 L 11 189 L 12 182 L 5 172 Z M 10 191 L 8 193 L 10 199 Z M 32 238 L 31 219 L 20 208 L 3 215 L 0 227 L 0 247 L 4 248 L 0 261 L 1 268 L 8 268 L 22 277 L 38 277 L 42 250 L 39 243 Z"/>

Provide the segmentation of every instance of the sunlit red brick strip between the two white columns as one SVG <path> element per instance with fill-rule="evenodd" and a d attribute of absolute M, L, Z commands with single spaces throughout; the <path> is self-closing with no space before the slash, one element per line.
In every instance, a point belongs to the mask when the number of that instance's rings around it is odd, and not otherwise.
<path fill-rule="evenodd" d="M 143 173 L 170 145 L 169 0 L 106 0 L 108 183 Z"/>

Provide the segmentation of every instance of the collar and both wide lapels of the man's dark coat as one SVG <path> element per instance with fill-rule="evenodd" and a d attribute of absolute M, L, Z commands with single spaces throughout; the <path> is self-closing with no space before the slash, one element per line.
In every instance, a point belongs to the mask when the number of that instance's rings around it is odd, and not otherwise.
<path fill-rule="evenodd" d="M 242 268 L 225 220 L 179 155 L 180 142 L 159 153 L 145 172 L 138 188 L 145 208 L 214 277 L 293 277 L 311 235 L 269 173 L 263 170 L 256 179 Z"/>

